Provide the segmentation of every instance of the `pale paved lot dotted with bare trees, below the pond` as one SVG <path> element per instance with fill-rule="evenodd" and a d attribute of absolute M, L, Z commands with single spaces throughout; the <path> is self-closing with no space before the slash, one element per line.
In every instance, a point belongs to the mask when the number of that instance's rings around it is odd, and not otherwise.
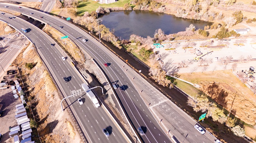
<path fill-rule="evenodd" d="M 194 52 L 194 50 L 199 50 L 201 53 L 207 53 L 207 52 L 211 52 L 205 56 L 203 56 L 203 59 L 212 59 L 212 63 L 209 64 L 209 66 L 207 67 L 207 70 L 205 71 L 212 71 L 215 66 L 215 70 L 223 70 L 225 69 L 231 69 L 231 65 L 232 65 L 232 61 L 237 61 L 239 60 L 240 56 L 244 56 L 246 58 L 246 56 L 252 55 L 252 59 L 256 59 L 256 44 L 252 44 L 255 43 L 255 38 L 247 38 L 244 39 L 244 45 L 245 46 L 236 46 L 234 45 L 234 43 L 236 43 L 236 41 L 239 39 L 231 39 L 231 40 L 227 40 L 227 41 L 223 41 L 223 40 L 214 40 L 214 43 L 212 43 L 211 46 L 217 46 L 218 44 L 223 44 L 223 42 L 228 42 L 229 45 L 226 46 L 225 48 L 207 48 L 207 47 L 200 47 L 201 44 L 205 41 L 192 41 L 195 42 L 196 46 L 193 46 L 192 49 L 182 49 L 183 47 L 185 47 L 185 44 L 187 44 L 188 42 L 181 42 L 179 44 L 179 47 L 175 49 L 175 52 L 172 52 L 174 50 L 171 50 L 171 52 L 165 50 L 166 48 L 160 48 L 160 49 L 154 49 L 155 51 L 158 51 L 159 54 L 162 55 L 163 58 L 161 58 L 161 60 L 163 60 L 163 63 L 166 64 L 171 62 L 170 65 L 168 65 L 168 68 L 171 69 L 171 71 L 173 71 L 173 69 L 176 69 L 175 67 L 178 66 L 178 63 L 181 62 L 182 60 L 193 60 L 193 58 L 197 57 L 196 53 Z M 227 57 L 227 56 L 232 56 L 232 60 L 231 63 L 229 63 L 226 67 L 224 67 L 224 65 L 219 64 L 218 61 L 214 61 L 215 57 L 218 57 L 218 59 L 223 58 L 223 57 Z M 176 69 L 176 71 L 180 72 L 180 73 L 188 73 L 192 70 L 192 68 L 196 67 L 199 65 L 199 62 L 192 62 L 187 68 L 179 68 Z M 239 69 L 247 69 L 248 67 L 251 66 L 256 66 L 256 61 L 248 61 L 246 63 L 241 63 L 238 64 L 238 70 Z M 194 72 L 201 72 L 203 70 L 203 67 L 198 67 L 197 70 L 195 70 Z M 170 71 L 170 72 L 171 72 Z"/>

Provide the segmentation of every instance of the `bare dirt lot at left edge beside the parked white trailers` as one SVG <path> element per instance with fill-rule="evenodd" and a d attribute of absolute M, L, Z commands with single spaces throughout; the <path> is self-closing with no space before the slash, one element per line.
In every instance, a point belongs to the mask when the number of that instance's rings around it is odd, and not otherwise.
<path fill-rule="evenodd" d="M 14 67 L 9 67 L 8 70 L 16 70 Z M 5 75 L 6 76 L 6 73 Z M 13 80 L 15 80 L 14 75 L 12 75 Z M 2 81 L 1 78 L 0 81 Z M 11 86 L 9 85 L 7 89 L 0 90 L 0 104 L 3 104 L 0 110 L 3 110 L 3 116 L 0 118 L 0 133 L 3 136 L 2 142 L 4 143 L 13 143 L 13 139 L 9 138 L 9 126 L 15 127 L 17 126 L 17 122 L 15 120 L 15 112 L 16 105 L 20 104 L 20 99 L 15 99 L 13 96 L 13 92 Z"/>

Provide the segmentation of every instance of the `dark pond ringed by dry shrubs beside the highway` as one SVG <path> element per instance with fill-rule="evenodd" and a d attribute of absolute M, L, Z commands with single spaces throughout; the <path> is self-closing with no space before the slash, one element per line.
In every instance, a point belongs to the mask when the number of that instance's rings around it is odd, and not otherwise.
<path fill-rule="evenodd" d="M 174 15 L 165 13 L 156 13 L 151 11 L 114 11 L 100 17 L 102 24 L 115 30 L 115 35 L 121 39 L 129 39 L 131 34 L 142 37 L 154 37 L 157 29 L 162 29 L 165 34 L 173 34 L 185 31 L 190 24 L 196 26 L 196 29 L 203 29 L 206 25 L 212 25 L 211 22 L 200 20 L 178 18 Z"/>

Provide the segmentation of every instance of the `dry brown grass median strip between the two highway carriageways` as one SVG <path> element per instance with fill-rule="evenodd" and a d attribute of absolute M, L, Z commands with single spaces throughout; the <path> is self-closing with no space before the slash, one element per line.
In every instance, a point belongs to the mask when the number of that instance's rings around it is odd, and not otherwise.
<path fill-rule="evenodd" d="M 51 36 L 56 42 L 57 44 L 64 50 L 67 52 L 67 54 L 69 54 L 69 56 L 73 57 L 74 60 L 76 60 L 79 63 L 84 63 L 85 58 L 84 58 L 84 54 L 83 52 L 69 39 L 65 39 L 66 43 L 65 44 L 65 40 L 61 40 L 60 37 L 62 36 L 66 36 L 62 33 L 60 33 L 58 30 L 52 28 L 51 26 L 47 25 L 44 30 L 43 30 L 46 34 L 48 34 L 49 36 Z"/>

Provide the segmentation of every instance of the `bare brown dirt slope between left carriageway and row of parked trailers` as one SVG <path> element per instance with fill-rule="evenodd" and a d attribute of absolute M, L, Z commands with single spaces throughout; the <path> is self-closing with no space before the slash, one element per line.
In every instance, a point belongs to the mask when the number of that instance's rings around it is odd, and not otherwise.
<path fill-rule="evenodd" d="M 35 67 L 28 70 L 25 68 L 26 62 L 32 62 Z M 56 104 L 60 103 L 60 96 L 35 51 L 31 47 L 24 49 L 12 65 L 21 69 L 23 82 L 29 92 L 28 104 L 39 124 L 41 140 L 51 143 L 82 142 L 69 113 L 61 112 L 59 104 Z"/>

